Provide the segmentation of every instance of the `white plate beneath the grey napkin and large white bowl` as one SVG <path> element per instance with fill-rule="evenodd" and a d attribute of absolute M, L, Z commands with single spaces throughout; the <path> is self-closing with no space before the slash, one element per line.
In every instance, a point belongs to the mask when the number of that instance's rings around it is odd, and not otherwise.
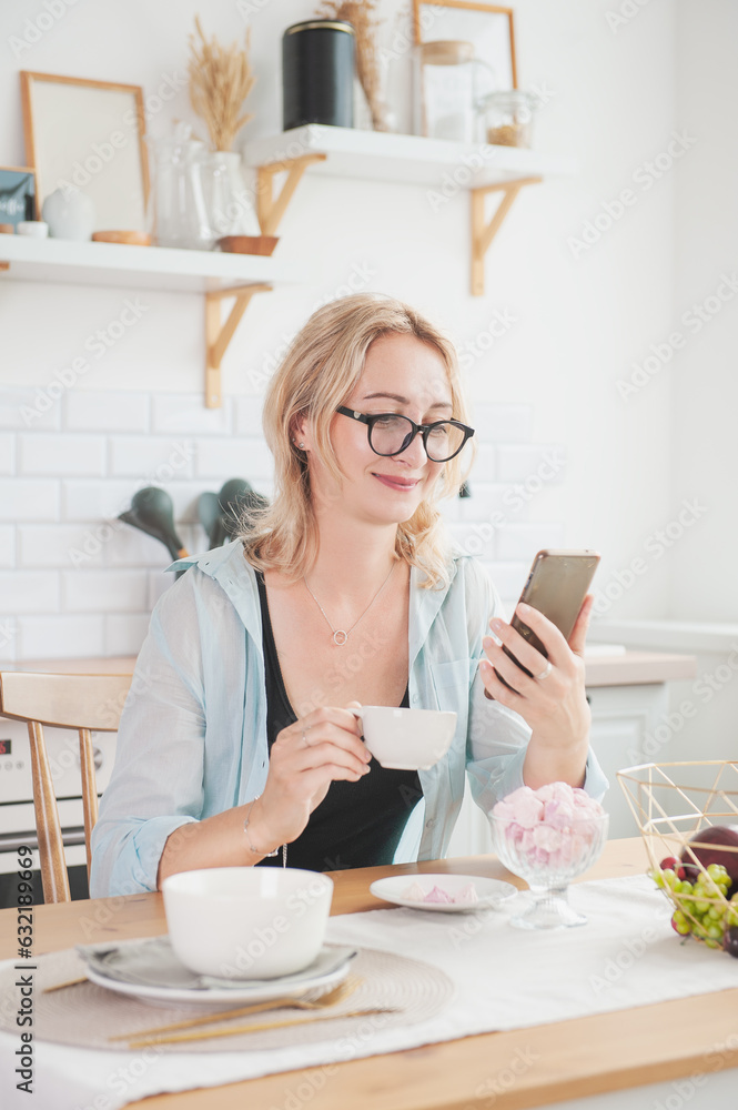
<path fill-rule="evenodd" d="M 163 938 L 152 938 L 149 944 L 154 944 Z M 138 942 L 137 942 L 138 944 Z M 146 941 L 142 941 L 146 945 Z M 121 944 L 123 948 L 125 942 Z M 104 946 L 100 946 L 101 948 Z M 113 946 L 109 946 L 113 947 Z M 222 1002 L 237 1005 L 239 1002 L 269 1002 L 272 999 L 304 995 L 316 988 L 327 988 L 341 982 L 348 973 L 353 952 L 350 949 L 340 949 L 346 953 L 346 958 L 336 967 L 336 959 L 340 958 L 336 948 L 323 946 L 310 967 L 304 971 L 284 976 L 280 979 L 249 979 L 243 983 L 230 980 L 229 986 L 220 987 L 212 985 L 208 987 L 165 987 L 160 985 L 149 985 L 143 982 L 125 982 L 104 973 L 99 966 L 88 962 L 87 976 L 91 982 L 105 990 L 114 990 L 121 995 L 131 995 L 135 998 L 145 999 L 152 1002 L 176 1003 L 186 1002 L 189 1005 L 218 1006 Z M 175 959 L 175 957 L 172 958 Z"/>

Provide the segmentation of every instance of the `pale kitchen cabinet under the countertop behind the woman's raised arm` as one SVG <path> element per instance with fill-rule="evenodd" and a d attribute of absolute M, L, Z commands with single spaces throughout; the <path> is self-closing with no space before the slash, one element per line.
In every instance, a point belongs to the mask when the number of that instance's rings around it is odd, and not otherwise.
<path fill-rule="evenodd" d="M 668 712 L 667 685 L 592 686 L 587 688 L 587 697 L 592 706 L 592 747 L 610 784 L 603 800 L 610 815 L 609 837 L 638 836 L 616 771 L 651 758 L 644 754 L 643 741 Z M 474 805 L 467 784 L 447 855 L 476 856 L 491 851 L 489 824 Z"/>

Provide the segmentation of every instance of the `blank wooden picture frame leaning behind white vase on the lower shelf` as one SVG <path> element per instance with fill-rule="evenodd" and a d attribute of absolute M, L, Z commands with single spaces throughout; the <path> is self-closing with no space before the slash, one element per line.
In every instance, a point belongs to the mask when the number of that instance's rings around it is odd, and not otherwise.
<path fill-rule="evenodd" d="M 29 70 L 20 71 L 20 82 L 39 218 L 50 193 L 74 186 L 94 204 L 95 231 L 145 231 L 149 159 L 141 85 Z"/>

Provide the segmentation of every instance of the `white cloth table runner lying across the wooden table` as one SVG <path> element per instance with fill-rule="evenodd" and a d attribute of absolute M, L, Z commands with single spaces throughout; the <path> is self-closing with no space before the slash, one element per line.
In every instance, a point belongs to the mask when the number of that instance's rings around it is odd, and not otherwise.
<path fill-rule="evenodd" d="M 512 928 L 507 918 L 512 907 L 517 910 L 518 899 L 497 914 L 391 909 L 331 918 L 327 940 L 334 944 L 406 955 L 452 978 L 456 996 L 448 1007 L 405 1029 L 383 1031 L 381 1017 L 375 1017 L 361 1022 L 353 1038 L 336 1040 L 326 1033 L 317 1045 L 188 1058 L 161 1057 L 151 1049 L 113 1053 L 34 1041 L 32 1100 L 17 1092 L 11 1080 L 20 1037 L 3 1033 L 3 1107 L 14 1110 L 32 1102 L 33 1110 L 115 1110 L 162 1091 L 218 1086 L 738 987 L 738 960 L 695 941 L 679 944 L 664 896 L 646 876 L 577 884 L 570 899 L 589 924 L 553 934 Z M 299 1076 L 285 1077 L 284 1103 L 300 1082 Z"/>

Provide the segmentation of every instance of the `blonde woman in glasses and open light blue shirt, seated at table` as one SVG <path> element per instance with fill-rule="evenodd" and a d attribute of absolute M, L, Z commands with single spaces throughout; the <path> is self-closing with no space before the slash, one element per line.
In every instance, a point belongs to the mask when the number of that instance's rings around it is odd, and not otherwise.
<path fill-rule="evenodd" d="M 405 858 L 442 857 L 465 771 L 486 810 L 524 783 L 601 795 L 590 599 L 568 644 L 526 614 L 546 660 L 444 537 L 438 502 L 457 493 L 474 435 L 448 341 L 395 300 L 333 302 L 295 337 L 263 423 L 272 504 L 186 561 L 152 615 L 93 833 L 93 896 L 199 867 L 392 862 L 401 841 Z M 454 709 L 451 750 L 431 770 L 387 770 L 352 704 Z"/>

